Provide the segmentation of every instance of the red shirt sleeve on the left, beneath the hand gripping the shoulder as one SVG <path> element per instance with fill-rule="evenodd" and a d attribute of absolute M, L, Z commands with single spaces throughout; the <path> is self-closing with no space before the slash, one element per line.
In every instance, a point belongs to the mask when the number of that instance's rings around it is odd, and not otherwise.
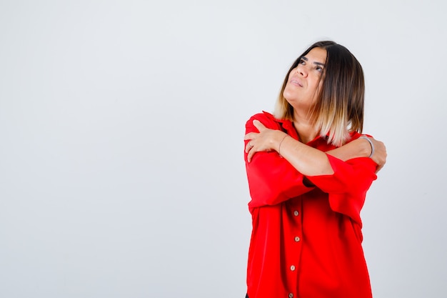
<path fill-rule="evenodd" d="M 246 134 L 258 132 L 253 125 L 254 119 L 261 121 L 269 129 L 281 129 L 281 125 L 266 114 L 256 114 L 247 121 Z M 247 143 L 245 141 L 245 145 Z M 244 151 L 244 159 L 251 194 L 251 202 L 248 203 L 250 209 L 278 204 L 313 189 L 303 184 L 303 174 L 277 152 L 257 152 L 248 163 Z"/>

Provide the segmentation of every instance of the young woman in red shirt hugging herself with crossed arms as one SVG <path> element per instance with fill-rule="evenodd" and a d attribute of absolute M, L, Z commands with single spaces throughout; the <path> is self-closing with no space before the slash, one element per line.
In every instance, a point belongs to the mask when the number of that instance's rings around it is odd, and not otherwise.
<path fill-rule="evenodd" d="M 361 135 L 363 98 L 357 59 L 319 41 L 291 66 L 273 115 L 247 121 L 249 298 L 371 297 L 360 211 L 386 148 Z"/>

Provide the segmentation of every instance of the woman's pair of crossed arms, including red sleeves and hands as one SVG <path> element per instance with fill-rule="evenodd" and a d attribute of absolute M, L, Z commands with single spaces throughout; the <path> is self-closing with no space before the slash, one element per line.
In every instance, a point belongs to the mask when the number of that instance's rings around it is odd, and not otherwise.
<path fill-rule="evenodd" d="M 260 121 L 253 121 L 254 116 L 246 125 L 244 139 L 250 209 L 278 204 L 318 187 L 328 194 L 334 211 L 359 220 L 366 191 L 376 179 L 374 172 L 386 162 L 383 143 L 371 138 L 376 147 L 371 159 L 367 158 L 371 155 L 371 145 L 365 139 L 321 152 L 278 130 L 279 126 L 276 128 L 277 124 L 268 117 L 257 117 L 265 119 L 271 129 Z M 278 152 L 283 158 L 265 154 L 271 151 Z M 256 153 L 261 156 L 253 159 Z"/>

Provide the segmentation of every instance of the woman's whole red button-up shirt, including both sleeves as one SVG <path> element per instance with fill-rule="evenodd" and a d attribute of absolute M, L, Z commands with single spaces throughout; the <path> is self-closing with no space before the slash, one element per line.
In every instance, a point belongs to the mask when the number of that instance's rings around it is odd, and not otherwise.
<path fill-rule="evenodd" d="M 298 139 L 291 121 L 266 112 L 247 121 L 246 133 L 258 132 L 253 119 Z M 351 139 L 358 136 L 353 133 Z M 323 152 L 335 148 L 321 137 L 308 145 Z M 245 154 L 253 221 L 248 297 L 371 297 L 360 211 L 376 179 L 376 164 L 368 158 L 328 159 L 334 174 L 307 177 L 316 185 L 309 188 L 276 152 L 258 152 L 249 164 Z"/>

